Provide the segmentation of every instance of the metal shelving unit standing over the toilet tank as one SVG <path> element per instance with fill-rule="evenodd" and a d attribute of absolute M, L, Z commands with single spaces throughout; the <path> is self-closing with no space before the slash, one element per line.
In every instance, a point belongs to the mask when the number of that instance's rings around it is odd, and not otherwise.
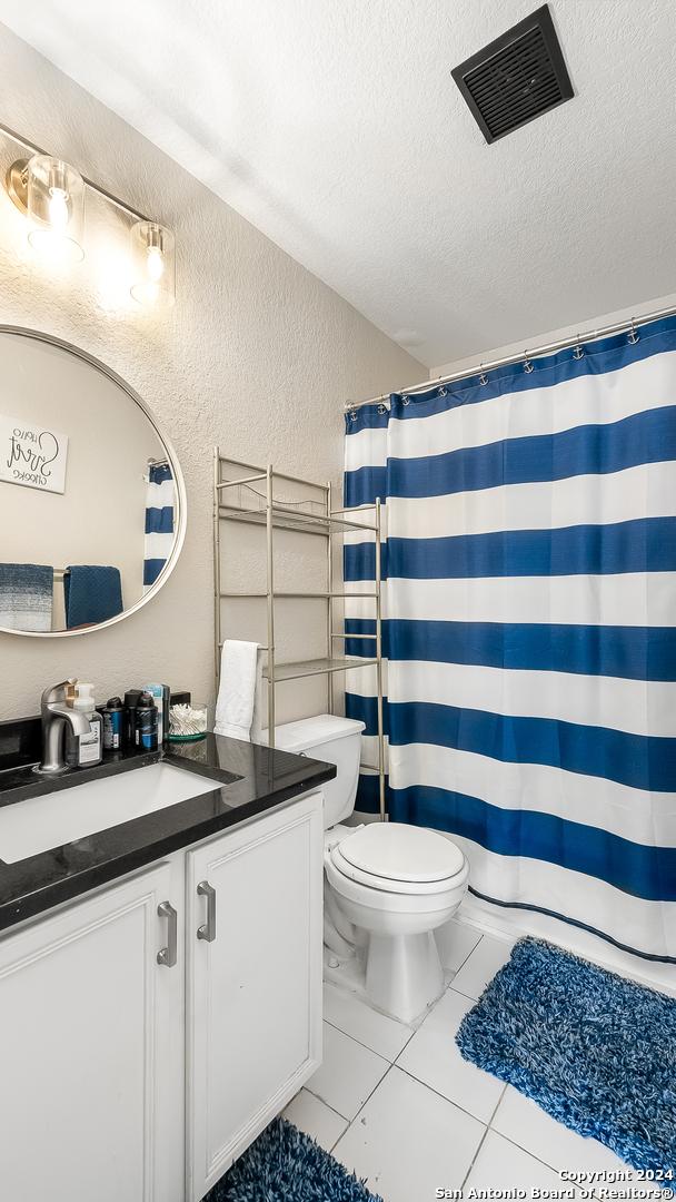
<path fill-rule="evenodd" d="M 232 471 L 244 471 L 244 475 L 231 476 Z M 322 494 L 321 501 L 310 502 L 307 500 L 298 502 L 300 505 L 316 504 L 319 512 L 312 513 L 295 507 L 288 501 L 280 501 L 275 498 L 275 482 L 300 484 L 303 488 L 316 489 Z M 253 490 L 252 495 L 264 500 L 264 506 L 259 508 L 246 507 L 241 504 L 233 504 L 231 489 L 252 489 L 255 484 L 264 486 L 264 492 Z M 373 513 L 371 522 L 354 520 L 346 514 Z M 264 591 L 255 593 L 228 593 L 222 588 L 221 576 L 221 524 L 223 522 L 239 522 L 258 526 L 265 530 L 267 537 L 267 582 Z M 322 537 L 327 542 L 327 588 L 322 591 L 288 593 L 275 589 L 275 530 L 293 530 L 297 534 Z M 354 593 L 334 589 L 334 564 L 333 564 L 333 540 L 336 535 L 342 535 L 353 530 L 370 530 L 375 535 L 376 543 L 376 581 L 372 593 Z M 333 679 L 336 672 L 348 672 L 351 668 L 376 667 L 377 678 L 377 724 L 378 724 L 378 796 L 381 820 L 385 821 L 385 756 L 383 733 L 383 642 L 382 642 L 382 605 L 381 605 L 381 501 L 375 505 L 360 506 L 359 510 L 334 510 L 331 505 L 331 484 L 318 484 L 312 480 L 304 480 L 301 476 L 289 476 L 283 471 L 275 471 L 271 464 L 259 468 L 251 463 L 243 463 L 240 459 L 232 459 L 222 454 L 219 447 L 214 451 L 214 615 L 215 615 L 215 660 L 216 660 L 216 690 L 219 688 L 219 672 L 221 666 L 222 630 L 221 630 L 221 601 L 222 599 L 244 597 L 253 600 L 264 599 L 267 602 L 268 619 L 268 643 L 263 648 L 268 653 L 268 664 L 264 668 L 264 678 L 268 682 L 268 739 L 270 746 L 275 745 L 275 691 L 279 684 L 291 680 L 301 680 L 306 677 L 325 676 L 329 712 L 334 709 Z M 376 633 L 375 635 L 346 635 L 343 631 L 334 630 L 334 602 L 349 597 L 369 599 L 375 602 Z M 275 659 L 275 601 L 280 599 L 316 600 L 323 601 L 327 606 L 327 655 L 313 660 L 292 661 L 279 664 Z M 345 642 L 346 638 L 358 638 L 373 642 L 372 657 L 353 655 L 334 655 L 334 644 Z M 372 764 L 363 767 L 373 768 Z"/>

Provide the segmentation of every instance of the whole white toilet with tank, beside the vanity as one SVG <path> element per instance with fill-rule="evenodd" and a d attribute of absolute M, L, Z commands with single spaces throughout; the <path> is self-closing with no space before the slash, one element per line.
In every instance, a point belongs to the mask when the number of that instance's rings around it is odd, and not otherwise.
<path fill-rule="evenodd" d="M 325 938 L 343 953 L 364 952 L 369 1001 L 411 1022 L 443 990 L 432 932 L 457 910 L 468 864 L 436 831 L 399 822 L 340 825 L 354 809 L 363 730 L 353 719 L 319 714 L 277 726 L 275 742 L 337 767 L 335 780 L 323 786 Z"/>

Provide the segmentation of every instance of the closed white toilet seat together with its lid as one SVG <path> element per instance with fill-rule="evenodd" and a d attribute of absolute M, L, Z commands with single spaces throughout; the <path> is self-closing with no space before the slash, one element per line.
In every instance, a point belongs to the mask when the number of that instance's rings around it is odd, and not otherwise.
<path fill-rule="evenodd" d="M 384 893 L 445 892 L 467 871 L 465 856 L 450 839 L 401 822 L 360 827 L 328 856 L 341 876 Z"/>

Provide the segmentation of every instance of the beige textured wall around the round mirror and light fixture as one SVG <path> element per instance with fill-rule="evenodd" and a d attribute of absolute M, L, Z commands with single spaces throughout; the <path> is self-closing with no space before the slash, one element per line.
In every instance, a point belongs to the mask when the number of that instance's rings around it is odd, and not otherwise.
<path fill-rule="evenodd" d="M 189 496 L 180 561 L 138 614 L 76 638 L 0 635 L 0 718 L 34 713 L 42 688 L 68 674 L 94 680 L 100 698 L 143 678 L 210 698 L 213 445 L 337 483 L 345 399 L 425 371 L 4 26 L 0 61 L 2 120 L 171 225 L 178 243 L 177 304 L 148 315 L 125 298 L 124 222 L 109 209 L 91 204 L 88 257 L 53 275 L 32 260 L 23 219 L 1 194 L 0 322 L 68 339 L 119 371 L 163 423 Z M 2 175 L 16 156 L 16 144 L 0 137 Z M 294 571 L 305 554 L 289 559 Z M 318 636 L 303 611 L 286 619 Z M 282 700 L 283 716 L 293 707 L 285 710 Z"/>

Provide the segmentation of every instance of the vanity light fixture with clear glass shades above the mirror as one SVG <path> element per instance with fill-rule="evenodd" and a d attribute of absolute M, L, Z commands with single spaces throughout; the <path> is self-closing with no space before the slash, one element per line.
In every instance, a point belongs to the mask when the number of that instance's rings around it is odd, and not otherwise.
<path fill-rule="evenodd" d="M 175 299 L 175 239 L 167 226 L 152 221 L 104 188 L 86 179 L 62 159 L 46 154 L 0 123 L 0 133 L 29 155 L 7 169 L 8 196 L 30 222 L 29 242 L 59 260 L 84 258 L 84 204 L 91 189 L 133 220 L 130 230 L 132 276 L 130 292 L 149 308 L 166 308 Z"/>

